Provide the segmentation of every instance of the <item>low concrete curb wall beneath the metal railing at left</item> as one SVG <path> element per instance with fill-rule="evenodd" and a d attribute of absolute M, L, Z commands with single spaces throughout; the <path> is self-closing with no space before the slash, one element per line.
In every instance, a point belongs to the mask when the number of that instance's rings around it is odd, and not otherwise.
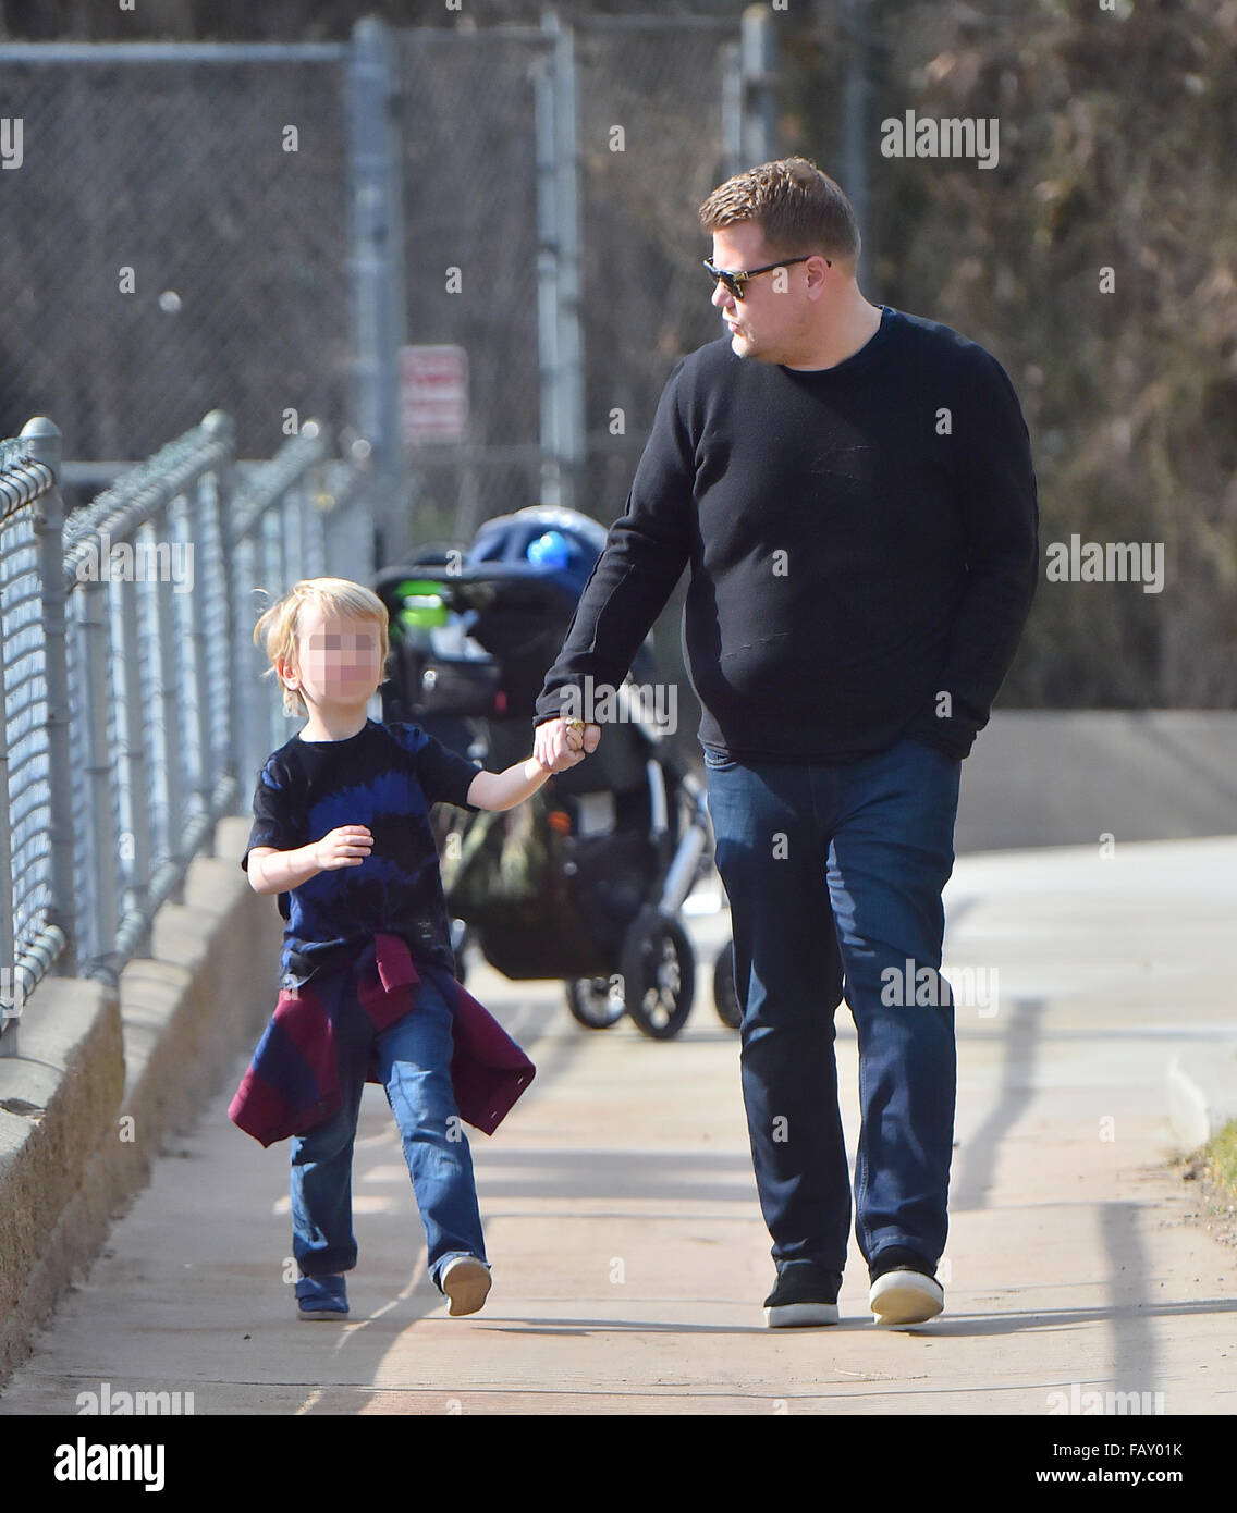
<path fill-rule="evenodd" d="M 283 921 L 238 867 L 248 834 L 220 822 L 118 994 L 45 979 L 0 1059 L 0 1384 L 271 1014 Z"/>

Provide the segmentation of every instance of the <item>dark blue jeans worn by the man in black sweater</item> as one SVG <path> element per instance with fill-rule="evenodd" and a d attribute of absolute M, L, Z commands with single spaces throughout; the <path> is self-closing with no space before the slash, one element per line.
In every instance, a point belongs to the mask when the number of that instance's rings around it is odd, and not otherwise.
<path fill-rule="evenodd" d="M 957 1085 L 940 893 L 961 763 L 911 738 L 845 763 L 740 764 L 712 749 L 704 760 L 777 1269 L 845 1269 L 851 1192 L 833 1020 L 843 979 L 858 1032 L 855 1239 L 868 1262 L 905 1245 L 936 1266 Z"/>

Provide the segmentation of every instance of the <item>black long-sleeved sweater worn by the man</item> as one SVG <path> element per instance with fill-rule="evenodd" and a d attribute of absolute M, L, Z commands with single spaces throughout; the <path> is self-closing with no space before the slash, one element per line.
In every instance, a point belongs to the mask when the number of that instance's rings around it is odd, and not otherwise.
<path fill-rule="evenodd" d="M 686 566 L 704 746 L 828 761 L 916 735 L 966 756 L 1039 576 L 1005 369 L 887 306 L 834 368 L 736 357 L 730 337 L 683 357 L 534 723 L 568 685 L 622 682 Z"/>

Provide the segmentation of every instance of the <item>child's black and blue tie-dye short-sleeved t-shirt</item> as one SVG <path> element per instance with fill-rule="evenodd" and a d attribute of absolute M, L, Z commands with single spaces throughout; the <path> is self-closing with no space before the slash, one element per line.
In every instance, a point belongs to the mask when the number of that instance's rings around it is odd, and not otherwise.
<path fill-rule="evenodd" d="M 447 905 L 430 828 L 432 803 L 466 800 L 480 769 L 416 725 L 365 728 L 342 741 L 294 735 L 266 758 L 253 796 L 253 829 L 241 867 L 256 846 L 297 850 L 341 825 L 374 837 L 359 867 L 319 871 L 279 894 L 283 932 L 280 986 L 295 988 L 332 956 L 377 934 L 403 937 L 413 959 L 454 971 Z"/>

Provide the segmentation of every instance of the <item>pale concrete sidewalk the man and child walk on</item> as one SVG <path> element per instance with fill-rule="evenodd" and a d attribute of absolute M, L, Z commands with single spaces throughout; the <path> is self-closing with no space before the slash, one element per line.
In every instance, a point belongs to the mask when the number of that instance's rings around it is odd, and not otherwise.
<path fill-rule="evenodd" d="M 1096 1390 L 1148 1395 L 1143 1412 L 1237 1412 L 1237 1253 L 1192 1219 L 1167 1165 L 1164 1088 L 1175 1053 L 1237 1042 L 1235 906 L 1237 840 L 958 862 L 946 974 L 958 990 L 972 968 L 977 991 L 957 1011 L 946 1312 L 930 1324 L 875 1327 L 852 1242 L 840 1325 L 765 1328 L 774 1271 L 739 1041 L 712 1008 L 719 912 L 689 920 L 696 1003 L 666 1044 L 627 1021 L 577 1027 L 559 985 L 469 976 L 539 1067 L 494 1139 L 469 1132 L 495 1268 L 481 1313 L 448 1318 L 430 1285 L 391 1115 L 368 1088 L 351 1319 L 295 1319 L 288 1147 L 262 1151 L 226 1114 L 247 1045 L 0 1415 L 76 1413 L 103 1383 L 192 1392 L 197 1415 L 1043 1416 Z M 854 1151 L 845 1006 L 837 1026 Z"/>

